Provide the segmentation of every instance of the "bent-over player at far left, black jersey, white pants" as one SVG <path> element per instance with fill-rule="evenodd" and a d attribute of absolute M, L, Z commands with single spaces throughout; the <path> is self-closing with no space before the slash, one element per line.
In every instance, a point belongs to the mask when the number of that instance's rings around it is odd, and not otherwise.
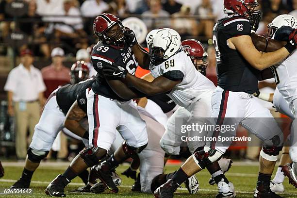
<path fill-rule="evenodd" d="M 71 67 L 71 82 L 75 84 L 59 87 L 49 96 L 43 107 L 39 122 L 35 126 L 22 175 L 11 188 L 29 188 L 34 171 L 39 166 L 41 160 L 48 155 L 58 132 L 62 129 L 64 132 L 67 132 L 63 124 L 65 115 L 75 100 L 84 99 L 86 101 L 85 94 L 84 98 L 77 98 L 77 96 L 80 92 L 85 93 L 85 90 L 91 87 L 95 81 L 94 78 L 86 80 L 88 77 L 87 68 L 84 62 L 78 61 L 73 64 Z M 84 108 L 84 111 L 86 111 L 86 108 Z M 79 134 L 79 136 L 83 137 L 84 143 L 87 143 L 88 132 L 84 132 Z M 72 132 L 67 132 L 66 134 L 74 138 L 77 137 Z M 86 180 L 87 177 L 84 177 L 84 182 Z"/>

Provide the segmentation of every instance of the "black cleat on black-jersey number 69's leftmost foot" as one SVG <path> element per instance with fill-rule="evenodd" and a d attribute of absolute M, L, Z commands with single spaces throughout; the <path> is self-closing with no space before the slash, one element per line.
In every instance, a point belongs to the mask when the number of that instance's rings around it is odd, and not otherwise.
<path fill-rule="evenodd" d="M 70 181 L 60 174 L 49 183 L 45 193 L 51 197 L 66 197 L 64 194 L 64 188 L 68 183 L 70 183 Z"/>

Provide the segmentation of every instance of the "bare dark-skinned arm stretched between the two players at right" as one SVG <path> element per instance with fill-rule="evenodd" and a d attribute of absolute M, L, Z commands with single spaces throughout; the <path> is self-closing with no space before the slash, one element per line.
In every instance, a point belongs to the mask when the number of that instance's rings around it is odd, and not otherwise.
<path fill-rule="evenodd" d="M 251 38 L 256 49 L 264 52 L 271 52 L 281 49 L 286 42 L 277 41 L 274 39 L 266 39 L 264 36 L 257 35 L 256 33 L 251 33 Z"/>

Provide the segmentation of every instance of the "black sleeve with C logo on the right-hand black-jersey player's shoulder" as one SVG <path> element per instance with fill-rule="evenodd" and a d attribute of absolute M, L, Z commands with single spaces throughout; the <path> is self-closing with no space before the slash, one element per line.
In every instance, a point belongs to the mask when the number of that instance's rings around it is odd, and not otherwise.
<path fill-rule="evenodd" d="M 250 23 L 246 18 L 227 20 L 223 25 L 223 32 L 227 39 L 241 35 L 250 35 Z"/>

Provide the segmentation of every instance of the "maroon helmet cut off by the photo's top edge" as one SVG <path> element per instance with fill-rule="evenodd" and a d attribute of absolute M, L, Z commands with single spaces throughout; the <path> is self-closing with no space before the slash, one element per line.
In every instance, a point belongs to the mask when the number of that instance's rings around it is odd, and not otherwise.
<path fill-rule="evenodd" d="M 255 7 L 258 6 L 257 0 L 224 0 L 224 12 L 226 14 L 238 14 L 240 16 L 252 16 Z"/>

